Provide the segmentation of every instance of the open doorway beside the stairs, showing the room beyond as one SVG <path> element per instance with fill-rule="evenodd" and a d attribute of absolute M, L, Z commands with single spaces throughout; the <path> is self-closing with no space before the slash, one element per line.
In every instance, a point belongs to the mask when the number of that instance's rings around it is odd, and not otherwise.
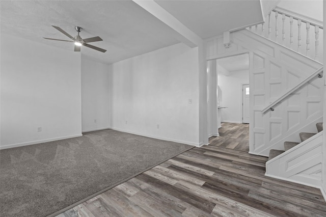
<path fill-rule="evenodd" d="M 207 62 L 207 118 L 211 145 L 249 151 L 249 98 L 249 52 Z M 218 134 L 214 135 L 216 131 Z"/>

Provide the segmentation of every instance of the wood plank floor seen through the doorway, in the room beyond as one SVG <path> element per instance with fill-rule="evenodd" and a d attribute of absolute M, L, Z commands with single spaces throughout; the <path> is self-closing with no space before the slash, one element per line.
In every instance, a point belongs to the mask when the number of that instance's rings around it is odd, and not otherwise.
<path fill-rule="evenodd" d="M 249 152 L 249 124 L 221 123 L 219 137 L 210 137 L 209 144 Z"/>

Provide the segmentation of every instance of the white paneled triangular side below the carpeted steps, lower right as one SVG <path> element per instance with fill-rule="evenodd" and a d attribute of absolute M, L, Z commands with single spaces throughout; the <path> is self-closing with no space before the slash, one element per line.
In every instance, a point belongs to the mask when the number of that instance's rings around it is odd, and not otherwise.
<path fill-rule="evenodd" d="M 266 176 L 321 187 L 323 131 L 266 162 Z"/>

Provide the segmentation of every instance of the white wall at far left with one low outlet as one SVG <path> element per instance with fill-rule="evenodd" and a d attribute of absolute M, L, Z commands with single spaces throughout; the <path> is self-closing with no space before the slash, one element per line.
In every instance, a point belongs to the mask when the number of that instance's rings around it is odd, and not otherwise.
<path fill-rule="evenodd" d="M 80 83 L 80 53 L 2 34 L 0 147 L 81 135 Z"/>

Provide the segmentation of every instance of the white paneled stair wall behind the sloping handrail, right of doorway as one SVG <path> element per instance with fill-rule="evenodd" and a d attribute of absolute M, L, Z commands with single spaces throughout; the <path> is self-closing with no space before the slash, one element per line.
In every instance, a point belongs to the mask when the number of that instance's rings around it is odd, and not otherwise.
<path fill-rule="evenodd" d="M 268 156 L 270 149 L 283 150 L 284 141 L 321 121 L 323 79 L 313 78 L 277 104 L 274 112 L 262 114 L 261 110 L 322 64 L 248 30 L 233 32 L 231 40 L 236 46 L 250 51 L 249 153 Z M 289 141 L 297 139 L 298 135 Z"/>

